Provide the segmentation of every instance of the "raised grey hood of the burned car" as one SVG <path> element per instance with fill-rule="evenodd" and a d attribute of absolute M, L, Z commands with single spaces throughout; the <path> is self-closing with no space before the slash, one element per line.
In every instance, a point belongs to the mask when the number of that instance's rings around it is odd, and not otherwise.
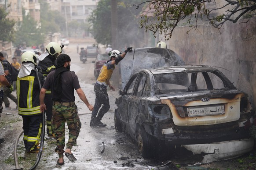
<path fill-rule="evenodd" d="M 122 88 L 133 74 L 142 69 L 159 68 L 185 64 L 183 59 L 174 51 L 164 48 L 147 47 L 133 49 L 120 62 Z"/>

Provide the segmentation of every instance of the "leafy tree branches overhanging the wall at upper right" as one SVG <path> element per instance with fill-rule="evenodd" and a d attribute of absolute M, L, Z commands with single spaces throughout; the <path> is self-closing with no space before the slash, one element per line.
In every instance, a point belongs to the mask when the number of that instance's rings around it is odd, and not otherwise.
<path fill-rule="evenodd" d="M 191 29 L 197 28 L 200 20 L 220 28 L 226 21 L 235 23 L 241 17 L 252 17 L 256 9 L 255 0 L 223 0 L 218 4 L 215 0 L 146 0 L 135 6 L 142 4 L 146 4 L 150 13 L 141 15 L 140 28 L 154 35 L 159 32 L 166 40 L 184 20 Z"/>

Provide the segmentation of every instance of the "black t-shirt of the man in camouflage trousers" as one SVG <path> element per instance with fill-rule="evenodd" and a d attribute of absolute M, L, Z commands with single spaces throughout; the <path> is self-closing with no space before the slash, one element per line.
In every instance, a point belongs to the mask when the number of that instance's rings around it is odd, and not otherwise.
<path fill-rule="evenodd" d="M 54 84 L 54 74 L 55 70 L 51 71 L 43 85 L 44 89 L 50 90 L 51 93 L 53 90 L 53 84 Z M 61 74 L 61 80 L 62 80 L 62 93 L 60 94 L 61 101 L 59 102 L 74 102 L 75 96 L 74 96 L 74 89 L 80 89 L 80 84 L 77 78 L 77 75 L 72 71 L 65 71 Z"/>

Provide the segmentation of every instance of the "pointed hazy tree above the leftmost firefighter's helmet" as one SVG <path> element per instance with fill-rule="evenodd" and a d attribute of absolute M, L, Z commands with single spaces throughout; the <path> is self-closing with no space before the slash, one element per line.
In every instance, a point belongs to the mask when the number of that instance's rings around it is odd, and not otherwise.
<path fill-rule="evenodd" d="M 39 45 L 44 43 L 44 35 L 41 34 L 41 29 L 37 27 L 37 21 L 35 21 L 29 14 L 25 14 L 25 10 L 22 9 L 22 22 L 17 26 L 17 32 L 15 34 L 16 46 L 26 43 L 26 46 Z"/>

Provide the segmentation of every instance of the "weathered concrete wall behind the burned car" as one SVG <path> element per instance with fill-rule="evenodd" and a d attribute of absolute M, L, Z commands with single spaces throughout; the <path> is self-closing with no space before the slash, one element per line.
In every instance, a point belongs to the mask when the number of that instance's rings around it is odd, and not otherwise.
<path fill-rule="evenodd" d="M 222 67 L 219 70 L 238 89 L 248 93 L 255 110 L 256 18 L 246 21 L 226 22 L 220 30 L 208 24 L 198 25 L 198 30 L 191 30 L 188 34 L 189 27 L 179 27 L 167 45 L 186 64 Z"/>

